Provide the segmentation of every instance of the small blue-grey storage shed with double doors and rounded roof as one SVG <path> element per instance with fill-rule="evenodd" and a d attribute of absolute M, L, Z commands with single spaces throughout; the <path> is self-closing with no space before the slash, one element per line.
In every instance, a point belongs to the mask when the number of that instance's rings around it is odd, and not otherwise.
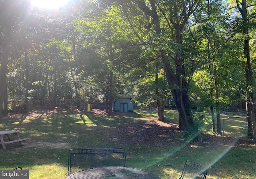
<path fill-rule="evenodd" d="M 130 99 L 115 99 L 112 101 L 113 112 L 133 112 L 133 103 Z"/>

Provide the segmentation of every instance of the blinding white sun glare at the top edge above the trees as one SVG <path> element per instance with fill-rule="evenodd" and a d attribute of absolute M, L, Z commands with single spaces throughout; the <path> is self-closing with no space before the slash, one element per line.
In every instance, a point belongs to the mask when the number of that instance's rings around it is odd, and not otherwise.
<path fill-rule="evenodd" d="M 70 0 L 31 0 L 32 6 L 36 6 L 38 8 L 47 8 L 47 9 L 58 9 Z"/>

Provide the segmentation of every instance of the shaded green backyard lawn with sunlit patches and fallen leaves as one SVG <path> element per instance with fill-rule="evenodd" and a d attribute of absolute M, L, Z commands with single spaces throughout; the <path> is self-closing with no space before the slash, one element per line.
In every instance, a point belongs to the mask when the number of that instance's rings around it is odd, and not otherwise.
<path fill-rule="evenodd" d="M 166 122 L 157 121 L 156 110 L 112 116 L 100 110 L 6 116 L 0 120 L 0 131 L 21 130 L 20 137 L 30 140 L 22 146 L 8 144 L 6 150 L 0 146 L 0 169 L 22 167 L 30 170 L 30 179 L 65 179 L 69 149 L 121 147 L 128 167 L 162 179 L 178 179 L 186 160 L 208 167 L 208 179 L 256 178 L 256 146 L 246 139 L 242 114 L 222 114 L 224 135 L 212 134 L 206 126 L 201 143 L 184 140 L 177 111 L 166 110 L 164 115 Z"/>

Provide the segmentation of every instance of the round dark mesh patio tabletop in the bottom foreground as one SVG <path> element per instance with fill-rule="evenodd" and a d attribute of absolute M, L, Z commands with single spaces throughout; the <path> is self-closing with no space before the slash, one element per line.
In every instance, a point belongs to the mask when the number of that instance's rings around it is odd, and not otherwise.
<path fill-rule="evenodd" d="M 67 179 L 160 179 L 156 175 L 131 167 L 95 167 L 73 173 Z"/>

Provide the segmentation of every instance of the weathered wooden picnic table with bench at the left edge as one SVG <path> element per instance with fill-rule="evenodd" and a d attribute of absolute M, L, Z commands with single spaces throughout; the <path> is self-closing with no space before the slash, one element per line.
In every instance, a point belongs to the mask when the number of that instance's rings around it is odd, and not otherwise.
<path fill-rule="evenodd" d="M 5 144 L 12 144 L 14 142 L 19 142 L 21 145 L 21 141 L 28 140 L 29 138 L 23 138 L 21 139 L 19 134 L 20 130 L 6 130 L 6 131 L 0 131 L 0 144 L 3 146 L 4 149 L 6 149 Z M 10 138 L 9 135 L 16 135 L 15 139 Z M 7 137 L 8 141 L 5 141 L 4 138 Z"/>

